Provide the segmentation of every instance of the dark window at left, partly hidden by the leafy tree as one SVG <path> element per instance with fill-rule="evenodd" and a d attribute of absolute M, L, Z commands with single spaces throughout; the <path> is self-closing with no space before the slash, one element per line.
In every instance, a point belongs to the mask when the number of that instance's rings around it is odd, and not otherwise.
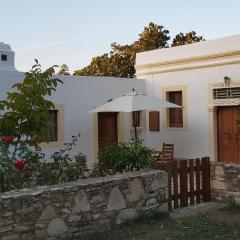
<path fill-rule="evenodd" d="M 49 110 L 50 120 L 48 129 L 48 141 L 58 141 L 58 110 Z"/>

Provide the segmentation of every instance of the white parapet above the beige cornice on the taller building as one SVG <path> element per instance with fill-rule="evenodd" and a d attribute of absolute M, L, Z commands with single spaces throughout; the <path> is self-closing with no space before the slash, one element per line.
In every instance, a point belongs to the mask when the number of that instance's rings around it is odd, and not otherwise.
<path fill-rule="evenodd" d="M 240 51 L 240 34 L 178 47 L 137 53 L 136 66 Z"/>

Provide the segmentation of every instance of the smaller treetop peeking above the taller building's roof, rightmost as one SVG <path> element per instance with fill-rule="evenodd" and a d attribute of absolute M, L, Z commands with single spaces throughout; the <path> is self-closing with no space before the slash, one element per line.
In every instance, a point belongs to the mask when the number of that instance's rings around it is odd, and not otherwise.
<path fill-rule="evenodd" d="M 179 33 L 175 36 L 175 38 L 172 41 L 171 46 L 176 47 L 176 46 L 181 46 L 181 45 L 187 45 L 187 44 L 192 44 L 195 42 L 201 42 L 204 41 L 205 39 L 202 36 L 197 36 L 196 32 L 188 32 L 188 33 Z"/>

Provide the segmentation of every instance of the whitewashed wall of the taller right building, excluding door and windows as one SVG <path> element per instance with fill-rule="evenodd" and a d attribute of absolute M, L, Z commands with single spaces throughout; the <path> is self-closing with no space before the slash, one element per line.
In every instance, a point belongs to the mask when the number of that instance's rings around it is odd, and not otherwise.
<path fill-rule="evenodd" d="M 209 60 L 208 55 L 217 57 Z M 206 59 L 191 59 L 200 56 Z M 184 59 L 191 61 L 181 63 Z M 208 83 L 224 82 L 224 76 L 233 82 L 240 81 L 240 35 L 140 53 L 137 54 L 136 68 L 137 77 L 146 79 L 147 95 L 162 98 L 163 87 L 187 86 L 187 129 L 164 128 L 161 115 L 160 132 L 147 131 L 147 145 L 161 149 L 163 142 L 174 143 L 176 157 L 209 156 Z"/>

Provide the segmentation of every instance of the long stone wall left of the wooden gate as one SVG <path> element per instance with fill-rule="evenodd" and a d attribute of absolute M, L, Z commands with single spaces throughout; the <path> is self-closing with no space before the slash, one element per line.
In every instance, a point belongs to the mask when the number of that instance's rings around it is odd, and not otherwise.
<path fill-rule="evenodd" d="M 74 239 L 166 210 L 167 173 L 136 172 L 0 194 L 0 239 Z"/>

